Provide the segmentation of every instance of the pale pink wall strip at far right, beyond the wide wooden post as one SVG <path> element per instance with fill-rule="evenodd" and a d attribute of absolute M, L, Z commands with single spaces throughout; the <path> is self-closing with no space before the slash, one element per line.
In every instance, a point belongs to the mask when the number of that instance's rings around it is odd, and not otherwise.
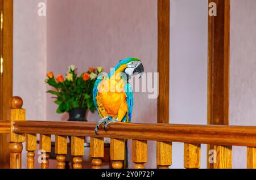
<path fill-rule="evenodd" d="M 256 1 L 232 0 L 230 125 L 256 126 Z M 246 148 L 233 147 L 233 167 L 246 168 Z"/>

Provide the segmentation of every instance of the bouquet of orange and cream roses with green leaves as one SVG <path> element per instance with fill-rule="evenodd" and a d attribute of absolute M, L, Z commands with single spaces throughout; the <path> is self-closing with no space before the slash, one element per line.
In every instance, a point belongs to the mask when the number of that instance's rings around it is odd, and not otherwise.
<path fill-rule="evenodd" d="M 57 75 L 56 78 L 53 72 L 47 74 L 46 83 L 53 87 L 53 90 L 47 91 L 54 95 L 55 104 L 58 105 L 57 113 L 69 113 L 70 116 L 73 110 L 77 112 L 77 109 L 83 109 L 86 112 L 87 109 L 90 112 L 94 112 L 95 106 L 93 104 L 93 86 L 96 82 L 98 74 L 102 72 L 102 67 L 89 68 L 87 72 L 77 75 L 77 68 L 71 65 L 68 67 L 68 71 L 65 75 Z M 85 117 L 85 115 L 82 115 Z M 75 116 L 72 118 L 74 119 Z M 82 118 L 80 120 L 82 121 Z M 79 117 L 78 117 L 79 119 Z M 79 120 L 77 120 L 79 121 Z"/>

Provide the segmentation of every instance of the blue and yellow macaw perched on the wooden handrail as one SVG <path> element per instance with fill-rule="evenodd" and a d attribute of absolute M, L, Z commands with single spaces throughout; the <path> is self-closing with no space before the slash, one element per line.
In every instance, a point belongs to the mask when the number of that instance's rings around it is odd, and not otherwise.
<path fill-rule="evenodd" d="M 141 60 L 127 58 L 119 61 L 117 66 L 106 76 L 98 76 L 93 88 L 93 102 L 101 119 L 98 121 L 95 133 L 101 123 L 104 129 L 112 122 L 131 122 L 133 113 L 133 89 L 128 80 L 131 76 L 144 72 Z"/>

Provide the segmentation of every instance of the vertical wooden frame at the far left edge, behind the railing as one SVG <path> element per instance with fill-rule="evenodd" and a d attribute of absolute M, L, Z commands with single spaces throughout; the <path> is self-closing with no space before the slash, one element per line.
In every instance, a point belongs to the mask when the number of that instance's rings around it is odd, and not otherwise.
<path fill-rule="evenodd" d="M 13 0 L 1 0 L 3 27 L 1 30 L 1 55 L 3 73 L 0 85 L 0 119 L 10 119 L 10 101 L 13 96 Z M 0 135 L 0 168 L 10 168 L 9 136 Z"/>

